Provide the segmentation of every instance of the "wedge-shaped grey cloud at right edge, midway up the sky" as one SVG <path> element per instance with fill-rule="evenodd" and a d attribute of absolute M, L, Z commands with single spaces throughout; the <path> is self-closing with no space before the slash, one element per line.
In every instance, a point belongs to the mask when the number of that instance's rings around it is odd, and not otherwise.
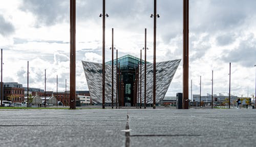
<path fill-rule="evenodd" d="M 237 48 L 234 48 L 222 56 L 225 62 L 239 63 L 245 67 L 252 67 L 256 61 L 256 39 L 251 34 L 248 39 L 242 40 Z"/>

